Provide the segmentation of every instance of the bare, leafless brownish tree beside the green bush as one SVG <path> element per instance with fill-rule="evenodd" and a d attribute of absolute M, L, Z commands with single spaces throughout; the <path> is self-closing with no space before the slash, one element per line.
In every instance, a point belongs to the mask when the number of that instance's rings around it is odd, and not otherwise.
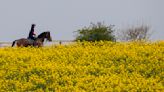
<path fill-rule="evenodd" d="M 122 41 L 141 41 L 150 38 L 150 27 L 141 25 L 123 30 L 120 35 Z"/>

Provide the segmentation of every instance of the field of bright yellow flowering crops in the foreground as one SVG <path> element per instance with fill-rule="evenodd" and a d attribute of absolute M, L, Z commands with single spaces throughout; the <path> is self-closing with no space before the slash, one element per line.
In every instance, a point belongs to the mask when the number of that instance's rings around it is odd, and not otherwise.
<path fill-rule="evenodd" d="M 164 91 L 164 42 L 0 48 L 0 91 Z"/>

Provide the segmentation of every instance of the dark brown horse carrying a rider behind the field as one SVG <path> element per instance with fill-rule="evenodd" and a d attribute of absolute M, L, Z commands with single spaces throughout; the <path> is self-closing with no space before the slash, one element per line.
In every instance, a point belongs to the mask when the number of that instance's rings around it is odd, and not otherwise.
<path fill-rule="evenodd" d="M 28 47 L 28 46 L 34 46 L 34 47 L 42 47 L 44 40 L 47 39 L 48 41 L 52 41 L 50 32 L 43 32 L 33 41 L 27 38 L 21 38 L 13 41 L 12 47 L 16 44 L 18 47 Z"/>

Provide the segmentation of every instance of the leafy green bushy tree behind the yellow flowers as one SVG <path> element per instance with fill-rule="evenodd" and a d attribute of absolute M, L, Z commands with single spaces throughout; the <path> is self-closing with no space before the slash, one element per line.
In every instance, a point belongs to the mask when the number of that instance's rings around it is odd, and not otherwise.
<path fill-rule="evenodd" d="M 113 25 L 106 26 L 104 23 L 91 23 L 89 27 L 84 27 L 77 32 L 76 41 L 115 41 L 113 35 Z"/>

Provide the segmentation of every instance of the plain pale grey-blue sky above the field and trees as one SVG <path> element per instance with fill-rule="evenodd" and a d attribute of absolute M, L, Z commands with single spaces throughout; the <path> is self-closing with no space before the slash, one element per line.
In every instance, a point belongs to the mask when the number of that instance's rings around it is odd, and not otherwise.
<path fill-rule="evenodd" d="M 91 22 L 120 31 L 149 25 L 151 40 L 164 40 L 164 0 L 0 0 L 0 42 L 50 31 L 53 40 L 73 40 L 74 31 Z"/>

